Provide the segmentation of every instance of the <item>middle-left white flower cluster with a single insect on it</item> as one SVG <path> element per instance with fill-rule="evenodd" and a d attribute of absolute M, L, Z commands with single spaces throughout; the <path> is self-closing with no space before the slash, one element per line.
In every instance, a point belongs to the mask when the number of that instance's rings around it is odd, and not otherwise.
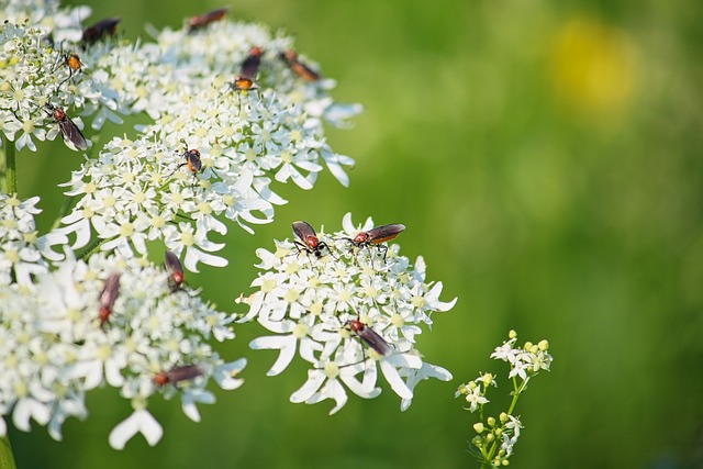
<path fill-rule="evenodd" d="M 210 178 L 200 180 L 207 189 L 191 189 L 192 176 L 177 170 L 182 159 L 157 141 L 113 138 L 67 183 L 67 194 L 79 199 L 63 219 L 60 232 L 77 235 L 75 248 L 85 246 L 92 232 L 103 250 L 124 257 L 145 255 L 147 242 L 160 239 L 177 255 L 185 252 L 185 266 L 191 271 L 198 271 L 197 263 L 225 266 L 226 259 L 210 254 L 224 245 L 208 239 L 212 231 L 227 232 L 220 219 L 245 227 L 243 222 L 265 223 L 279 200 L 254 180 L 252 171 L 242 169 L 234 176 L 222 165 L 222 171 L 207 167 L 200 176 Z M 214 160 L 231 163 L 225 157 Z"/>

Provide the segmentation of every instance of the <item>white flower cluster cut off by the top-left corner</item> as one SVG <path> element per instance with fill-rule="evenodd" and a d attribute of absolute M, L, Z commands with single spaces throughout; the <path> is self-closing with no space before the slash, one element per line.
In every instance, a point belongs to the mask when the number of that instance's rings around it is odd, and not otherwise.
<path fill-rule="evenodd" d="M 59 8 L 58 1 L 0 1 L 0 120 L 2 134 L 15 142 L 15 147 L 36 152 L 35 139 L 65 138 L 64 125 L 55 118 L 54 109 L 74 107 L 85 113 L 100 110 L 93 121 L 99 129 L 105 115 L 121 122 L 113 111 L 118 110 L 121 97 L 110 86 L 105 71 L 91 72 L 90 78 L 68 66 L 69 52 L 66 46 L 78 49 L 82 30 L 80 22 L 90 14 L 87 7 Z M 94 57 L 107 53 L 112 43 L 97 44 L 81 51 L 77 64 L 92 63 Z M 122 107 L 124 109 L 124 105 Z M 126 112 L 123 112 L 126 113 Z M 82 127 L 80 118 L 66 118 Z M 19 136 L 18 136 L 19 134 Z"/>

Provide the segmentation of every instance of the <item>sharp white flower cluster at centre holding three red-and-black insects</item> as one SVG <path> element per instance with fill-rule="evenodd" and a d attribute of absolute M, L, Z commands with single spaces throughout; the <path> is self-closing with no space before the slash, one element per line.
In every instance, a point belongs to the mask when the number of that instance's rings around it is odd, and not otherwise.
<path fill-rule="evenodd" d="M 380 368 L 405 410 L 417 382 L 451 379 L 423 362 L 415 339 L 423 324 L 432 325 L 432 313 L 450 310 L 456 299 L 439 301 L 442 282 L 426 282 L 422 257 L 412 266 L 398 245 L 383 254 L 377 245 L 353 248 L 349 239 L 372 226 L 368 219 L 357 228 L 347 214 L 344 231 L 319 235 L 321 250 L 310 252 L 302 239 L 277 242 L 275 253 L 257 250 L 264 272 L 252 283 L 258 291 L 242 299 L 249 311 L 241 321 L 256 319 L 276 334 L 250 343 L 280 350 L 269 376 L 283 371 L 297 351 L 311 364 L 292 402 L 332 399 L 335 413 L 347 402 L 345 387 L 361 398 L 378 395 Z"/>

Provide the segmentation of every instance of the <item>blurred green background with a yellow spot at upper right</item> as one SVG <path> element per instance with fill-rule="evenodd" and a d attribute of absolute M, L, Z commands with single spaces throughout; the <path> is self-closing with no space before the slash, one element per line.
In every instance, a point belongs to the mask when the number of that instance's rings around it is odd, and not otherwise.
<path fill-rule="evenodd" d="M 120 15 L 180 25 L 223 2 L 89 2 L 92 20 Z M 531 382 L 517 413 L 525 428 L 512 467 L 703 467 L 703 11 L 696 2 L 332 2 L 239 0 L 230 19 L 263 22 L 338 80 L 334 97 L 360 102 L 355 129 L 328 132 L 354 157 L 348 189 L 325 172 L 255 236 L 233 227 L 230 266 L 190 276 L 223 310 L 256 275 L 256 247 L 291 235 L 293 220 L 337 228 L 345 212 L 402 222 L 402 254 L 423 255 L 444 300 L 420 337 L 450 383 L 419 386 L 399 411 L 379 399 L 291 404 L 300 367 L 265 371 L 261 332 L 242 325 L 223 355 L 247 356 L 245 386 L 201 406 L 194 424 L 178 401 L 154 402 L 165 427 L 148 448 L 123 451 L 110 429 L 130 413 L 104 390 L 63 443 L 44 428 L 11 431 L 20 468 L 471 468 L 472 415 L 454 399 L 515 328 L 548 338 L 553 371 Z M 122 132 L 122 130 L 120 130 Z M 47 215 L 78 165 L 60 142 L 20 154 L 21 196 L 41 193 Z M 51 217 L 51 216 L 49 216 Z M 48 220 L 48 217 L 47 217 Z M 48 223 L 48 221 L 46 222 Z M 241 311 L 241 310 L 239 310 Z M 507 391 L 505 379 L 500 391 Z M 158 400 L 156 400 L 158 401 Z M 501 404 L 499 400 L 496 404 Z M 498 413 L 503 407 L 493 407 Z"/>

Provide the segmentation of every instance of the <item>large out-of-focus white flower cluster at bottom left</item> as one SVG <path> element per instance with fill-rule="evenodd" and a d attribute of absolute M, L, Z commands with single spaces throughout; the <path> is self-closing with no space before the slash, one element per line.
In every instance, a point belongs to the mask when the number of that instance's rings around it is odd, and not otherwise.
<path fill-rule="evenodd" d="M 224 362 L 208 344 L 234 338 L 232 316 L 174 290 L 163 268 L 101 255 L 68 256 L 57 267 L 34 286 L 0 284 L 0 414 L 16 428 L 30 431 L 34 420 L 60 439 L 66 418 L 87 416 L 86 392 L 107 384 L 134 409 L 111 446 L 136 433 L 154 445 L 163 434 L 146 410 L 154 394 L 180 395 L 199 421 L 196 404 L 214 402 L 210 379 L 223 389 L 242 384 L 246 361 Z"/>

